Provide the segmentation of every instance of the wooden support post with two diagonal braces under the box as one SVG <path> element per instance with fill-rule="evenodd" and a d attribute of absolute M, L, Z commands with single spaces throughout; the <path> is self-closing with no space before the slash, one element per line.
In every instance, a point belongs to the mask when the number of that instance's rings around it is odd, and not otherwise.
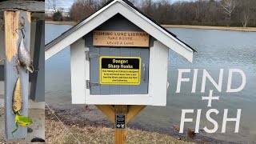
<path fill-rule="evenodd" d="M 146 106 L 137 105 L 95 105 L 98 110 L 101 110 L 106 117 L 114 123 L 115 129 L 115 114 L 126 114 L 126 124 L 132 120 L 140 111 L 142 111 Z M 126 133 L 127 130 L 114 130 L 114 142 L 115 144 L 126 143 Z"/>

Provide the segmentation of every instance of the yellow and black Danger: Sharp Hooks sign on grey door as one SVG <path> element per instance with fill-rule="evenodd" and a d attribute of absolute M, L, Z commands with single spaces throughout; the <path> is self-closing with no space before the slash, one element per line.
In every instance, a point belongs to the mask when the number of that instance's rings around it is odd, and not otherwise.
<path fill-rule="evenodd" d="M 99 81 L 102 85 L 139 85 L 141 58 L 101 56 L 99 58 Z"/>

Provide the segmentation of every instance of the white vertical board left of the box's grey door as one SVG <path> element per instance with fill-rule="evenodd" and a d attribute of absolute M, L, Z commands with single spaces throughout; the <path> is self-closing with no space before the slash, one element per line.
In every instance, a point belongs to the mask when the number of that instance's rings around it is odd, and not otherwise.
<path fill-rule="evenodd" d="M 72 103 L 84 104 L 86 102 L 85 42 L 80 38 L 70 47 Z"/>

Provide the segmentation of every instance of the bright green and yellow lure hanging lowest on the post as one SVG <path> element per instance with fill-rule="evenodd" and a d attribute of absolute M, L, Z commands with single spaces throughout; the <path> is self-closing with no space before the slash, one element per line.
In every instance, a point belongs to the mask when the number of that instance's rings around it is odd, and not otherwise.
<path fill-rule="evenodd" d="M 28 126 L 32 123 L 33 123 L 33 121 L 30 117 L 26 117 L 26 116 L 23 116 L 23 115 L 16 114 L 16 116 L 15 116 L 16 129 L 14 131 L 12 131 L 11 134 L 14 136 L 14 133 L 18 130 L 18 125 Z"/>

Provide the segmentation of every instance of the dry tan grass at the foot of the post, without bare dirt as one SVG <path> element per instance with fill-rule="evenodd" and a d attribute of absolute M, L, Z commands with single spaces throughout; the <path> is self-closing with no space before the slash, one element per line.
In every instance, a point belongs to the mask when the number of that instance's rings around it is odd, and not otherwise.
<path fill-rule="evenodd" d="M 114 143 L 114 130 L 106 127 L 85 126 L 80 128 L 78 126 L 67 126 L 69 130 L 79 139 L 81 143 Z M 54 120 L 46 120 L 46 143 L 78 143 L 78 141 L 70 134 L 61 122 Z M 167 134 L 158 134 L 155 132 L 143 130 L 131 130 L 127 132 L 127 143 L 146 144 L 146 143 L 177 143 L 186 144 L 191 142 L 184 142 L 173 138 Z"/>

